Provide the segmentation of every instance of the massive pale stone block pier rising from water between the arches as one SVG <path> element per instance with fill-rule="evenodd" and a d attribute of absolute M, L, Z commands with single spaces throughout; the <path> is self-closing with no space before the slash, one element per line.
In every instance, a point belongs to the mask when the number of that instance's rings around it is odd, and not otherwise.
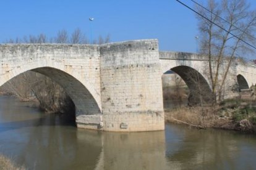
<path fill-rule="evenodd" d="M 100 54 L 105 131 L 163 130 L 158 42 L 105 44 Z"/>

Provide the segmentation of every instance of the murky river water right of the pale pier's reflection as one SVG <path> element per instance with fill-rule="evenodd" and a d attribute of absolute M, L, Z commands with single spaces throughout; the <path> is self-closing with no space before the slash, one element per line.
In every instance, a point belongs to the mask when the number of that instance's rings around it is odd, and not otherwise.
<path fill-rule="evenodd" d="M 179 134 L 179 140 L 168 137 L 170 133 Z M 246 140 L 250 142 L 247 143 Z M 166 146 L 169 165 L 180 166 L 177 169 L 254 169 L 256 167 L 254 135 L 213 129 L 207 131 L 187 129 L 169 124 L 166 126 Z"/>

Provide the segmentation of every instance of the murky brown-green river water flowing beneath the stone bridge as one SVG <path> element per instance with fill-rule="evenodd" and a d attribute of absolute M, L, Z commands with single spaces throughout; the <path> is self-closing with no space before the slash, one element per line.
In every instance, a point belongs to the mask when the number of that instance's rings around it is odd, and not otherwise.
<path fill-rule="evenodd" d="M 0 153 L 27 169 L 256 168 L 255 135 L 174 124 L 158 132 L 88 131 L 27 105 L 0 97 Z"/>

